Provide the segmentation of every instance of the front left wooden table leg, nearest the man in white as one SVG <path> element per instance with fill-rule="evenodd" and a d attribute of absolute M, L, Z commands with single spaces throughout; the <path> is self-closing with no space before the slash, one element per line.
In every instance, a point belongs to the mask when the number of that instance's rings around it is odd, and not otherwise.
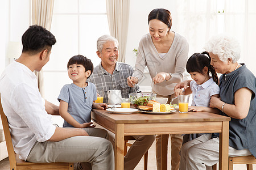
<path fill-rule="evenodd" d="M 117 124 L 115 128 L 115 170 L 123 170 L 123 153 L 125 149 L 124 129 L 124 124 Z"/>

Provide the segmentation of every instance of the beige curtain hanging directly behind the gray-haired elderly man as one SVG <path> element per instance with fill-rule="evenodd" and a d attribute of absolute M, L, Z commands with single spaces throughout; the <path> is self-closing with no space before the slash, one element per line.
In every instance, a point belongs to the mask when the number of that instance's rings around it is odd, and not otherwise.
<path fill-rule="evenodd" d="M 118 61 L 125 62 L 130 0 L 106 0 L 110 35 L 119 42 Z"/>

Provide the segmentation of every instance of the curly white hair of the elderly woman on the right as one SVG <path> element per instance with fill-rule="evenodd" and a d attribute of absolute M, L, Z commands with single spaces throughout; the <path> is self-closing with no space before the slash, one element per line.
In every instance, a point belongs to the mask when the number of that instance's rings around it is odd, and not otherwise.
<path fill-rule="evenodd" d="M 221 61 L 225 62 L 232 58 L 232 63 L 236 63 L 240 58 L 241 48 L 239 42 L 234 37 L 220 34 L 213 36 L 205 44 L 204 49 L 217 55 Z"/>

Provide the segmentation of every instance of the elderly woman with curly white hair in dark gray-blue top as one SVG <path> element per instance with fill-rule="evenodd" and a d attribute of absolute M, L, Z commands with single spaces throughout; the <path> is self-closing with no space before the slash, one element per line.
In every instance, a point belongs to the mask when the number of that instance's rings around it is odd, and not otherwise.
<path fill-rule="evenodd" d="M 220 98 L 212 97 L 210 107 L 231 118 L 229 156 L 256 157 L 256 79 L 245 64 L 238 63 L 240 45 L 232 37 L 218 35 L 205 45 L 211 65 L 221 73 Z M 175 86 L 186 88 L 189 81 Z M 181 147 L 180 169 L 206 169 L 218 162 L 219 135 L 205 134 Z"/>

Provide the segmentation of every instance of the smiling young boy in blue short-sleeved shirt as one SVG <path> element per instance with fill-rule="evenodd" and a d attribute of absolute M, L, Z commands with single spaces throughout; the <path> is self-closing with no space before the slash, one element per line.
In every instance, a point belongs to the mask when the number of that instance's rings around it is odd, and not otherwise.
<path fill-rule="evenodd" d="M 66 84 L 60 91 L 60 116 L 64 118 L 63 128 L 94 128 L 90 122 L 92 108 L 104 109 L 105 103 L 94 103 L 97 100 L 96 87 L 86 80 L 93 72 L 90 59 L 78 55 L 68 61 L 68 76 L 73 83 Z"/>

